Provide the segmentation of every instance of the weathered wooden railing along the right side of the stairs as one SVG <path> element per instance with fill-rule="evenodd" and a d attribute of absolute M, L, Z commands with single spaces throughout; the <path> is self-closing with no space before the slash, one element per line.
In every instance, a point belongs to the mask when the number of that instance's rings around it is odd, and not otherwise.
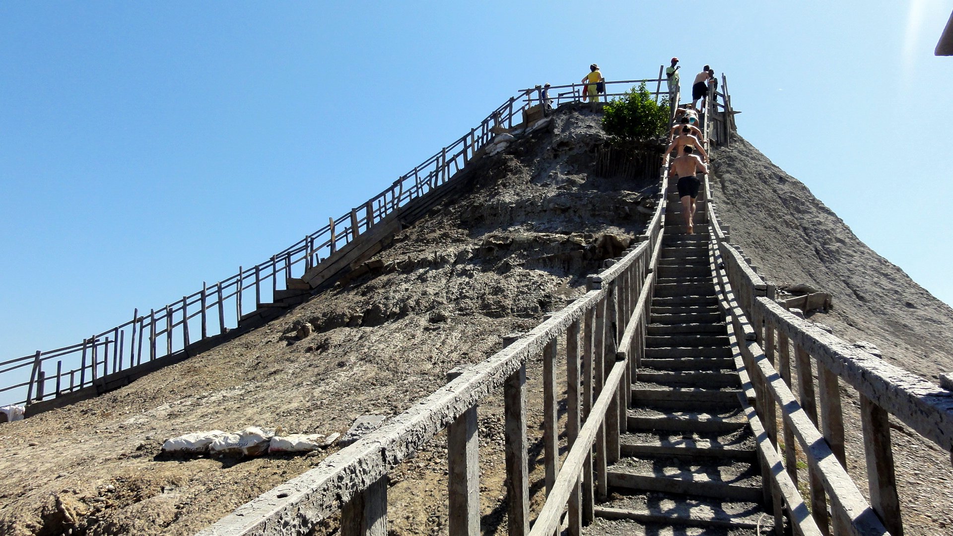
<path fill-rule="evenodd" d="M 774 462 L 765 471 L 776 494 L 798 484 L 796 445 L 807 460 L 805 499 L 814 523 L 793 520 L 796 534 L 902 535 L 889 416 L 951 451 L 953 397 L 782 307 L 775 287 L 730 242 L 730 226 L 720 223 L 707 183 L 705 189 L 712 261 L 722 266 L 716 271 L 722 307 L 751 381 L 749 402 L 770 441 Z M 861 402 L 869 503 L 846 472 L 841 386 Z"/>

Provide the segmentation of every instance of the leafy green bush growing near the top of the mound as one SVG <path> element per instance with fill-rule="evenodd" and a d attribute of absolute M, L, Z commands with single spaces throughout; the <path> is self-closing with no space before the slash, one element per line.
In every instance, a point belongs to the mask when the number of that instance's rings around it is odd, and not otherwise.
<path fill-rule="evenodd" d="M 603 112 L 605 132 L 624 141 L 646 141 L 664 135 L 670 115 L 668 99 L 663 98 L 656 104 L 644 82 L 639 89 L 633 88 L 612 99 Z"/>

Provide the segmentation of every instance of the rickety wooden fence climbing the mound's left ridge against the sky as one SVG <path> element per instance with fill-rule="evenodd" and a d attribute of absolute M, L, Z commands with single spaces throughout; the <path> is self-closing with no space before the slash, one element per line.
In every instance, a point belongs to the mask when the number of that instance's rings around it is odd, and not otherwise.
<path fill-rule="evenodd" d="M 659 80 L 607 82 L 613 88 Z M 580 86 L 558 86 L 572 88 Z M 130 320 L 75 344 L 0 362 L 0 401 L 35 402 L 95 394 L 208 349 L 263 307 L 294 294 L 289 285 L 339 257 L 338 252 L 402 207 L 446 184 L 494 135 L 518 127 L 534 106 L 536 89 L 523 90 L 469 133 L 427 158 L 365 203 L 252 267 L 158 309 L 136 309 Z M 617 93 L 612 93 L 617 94 Z M 620 93 L 618 93 L 620 94 Z M 296 281 L 300 283 L 300 281 Z M 293 289 L 294 290 L 294 289 Z M 307 289 L 310 290 L 310 289 Z M 301 292 L 299 289 L 298 292 Z M 29 413 L 29 407 L 28 407 Z"/>

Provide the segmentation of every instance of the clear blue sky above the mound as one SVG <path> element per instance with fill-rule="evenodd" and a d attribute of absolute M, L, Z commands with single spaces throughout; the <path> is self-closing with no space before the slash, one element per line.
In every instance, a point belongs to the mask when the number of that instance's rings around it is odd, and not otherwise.
<path fill-rule="evenodd" d="M 953 2 L 456 4 L 0 3 L 0 361 L 271 257 L 521 88 L 672 55 L 725 72 L 741 134 L 953 302 L 953 173 L 921 163 L 949 154 L 923 128 Z"/>

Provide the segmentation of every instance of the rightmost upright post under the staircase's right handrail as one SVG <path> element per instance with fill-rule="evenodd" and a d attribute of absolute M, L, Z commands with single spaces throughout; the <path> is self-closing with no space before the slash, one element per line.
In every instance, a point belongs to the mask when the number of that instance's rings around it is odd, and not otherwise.
<path fill-rule="evenodd" d="M 900 499 L 897 496 L 897 477 L 894 474 L 893 450 L 890 447 L 889 414 L 867 397 L 860 397 L 870 505 L 892 536 L 902 536 Z"/>

